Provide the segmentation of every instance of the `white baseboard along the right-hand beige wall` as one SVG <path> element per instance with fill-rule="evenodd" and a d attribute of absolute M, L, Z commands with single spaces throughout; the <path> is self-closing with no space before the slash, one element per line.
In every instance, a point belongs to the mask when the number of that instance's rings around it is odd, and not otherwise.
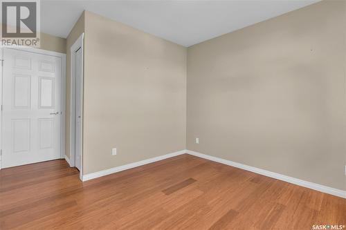
<path fill-rule="evenodd" d="M 303 186 L 303 187 L 306 187 L 306 188 L 309 188 L 309 189 L 320 191 L 322 193 L 328 193 L 328 194 L 331 194 L 331 195 L 336 195 L 336 196 L 338 196 L 340 198 L 346 198 L 346 191 L 343 191 L 343 190 L 340 190 L 340 189 L 334 189 L 334 188 L 331 188 L 329 186 L 325 186 L 325 185 L 322 185 L 322 184 L 316 184 L 316 183 L 313 183 L 313 182 L 307 182 L 305 180 L 300 180 L 298 178 L 291 178 L 291 177 L 289 177 L 287 175 L 282 175 L 280 173 L 273 173 L 271 171 L 266 171 L 264 169 L 259 169 L 259 168 L 253 167 L 253 166 L 248 166 L 246 164 L 240 164 L 240 163 L 237 163 L 237 162 L 232 162 L 230 160 L 224 160 L 224 159 L 219 158 L 219 157 L 213 157 L 211 155 L 206 155 L 206 154 L 198 153 L 198 152 L 195 152 L 195 151 L 187 150 L 186 153 L 188 153 L 190 155 L 197 156 L 197 157 L 201 157 L 201 158 L 204 158 L 204 159 L 207 159 L 207 160 L 211 160 L 213 162 L 219 162 L 221 164 L 227 164 L 227 165 L 239 168 L 239 169 L 244 169 L 246 171 L 251 171 L 253 173 L 265 175 L 265 176 L 267 176 L 269 178 L 274 178 L 274 179 L 277 179 L 277 180 L 282 180 L 284 182 L 289 182 L 291 184 L 297 184 L 299 186 Z"/>

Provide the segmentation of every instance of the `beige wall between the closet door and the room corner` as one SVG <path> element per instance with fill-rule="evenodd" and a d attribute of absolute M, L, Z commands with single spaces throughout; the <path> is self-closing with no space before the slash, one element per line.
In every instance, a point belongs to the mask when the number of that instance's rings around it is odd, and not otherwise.
<path fill-rule="evenodd" d="M 183 150 L 186 48 L 91 12 L 84 44 L 83 173 Z"/>

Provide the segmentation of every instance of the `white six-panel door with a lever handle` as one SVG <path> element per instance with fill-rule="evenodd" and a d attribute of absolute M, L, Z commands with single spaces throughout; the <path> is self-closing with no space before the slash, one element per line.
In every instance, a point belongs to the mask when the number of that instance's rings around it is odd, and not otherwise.
<path fill-rule="evenodd" d="M 3 49 L 3 168 L 60 158 L 60 57 Z"/>

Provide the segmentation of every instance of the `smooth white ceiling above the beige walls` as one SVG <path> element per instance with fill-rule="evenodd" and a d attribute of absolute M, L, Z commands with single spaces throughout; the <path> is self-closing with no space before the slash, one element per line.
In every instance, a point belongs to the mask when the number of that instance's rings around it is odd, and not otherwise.
<path fill-rule="evenodd" d="M 42 32 L 67 37 L 83 10 L 89 10 L 176 44 L 192 46 L 317 1 L 42 0 L 41 28 Z"/>

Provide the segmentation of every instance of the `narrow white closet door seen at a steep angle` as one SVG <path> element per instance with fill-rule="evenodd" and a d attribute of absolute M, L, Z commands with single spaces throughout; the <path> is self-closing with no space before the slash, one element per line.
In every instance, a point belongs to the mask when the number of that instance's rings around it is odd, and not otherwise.
<path fill-rule="evenodd" d="M 82 48 L 75 51 L 75 167 L 80 170 L 82 153 Z"/>

